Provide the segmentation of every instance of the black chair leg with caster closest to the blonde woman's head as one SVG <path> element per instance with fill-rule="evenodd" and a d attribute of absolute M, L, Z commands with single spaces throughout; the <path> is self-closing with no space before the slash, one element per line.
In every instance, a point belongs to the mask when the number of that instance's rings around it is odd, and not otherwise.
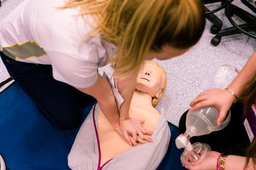
<path fill-rule="evenodd" d="M 210 11 L 208 8 L 204 7 L 205 11 L 208 12 Z M 213 25 L 211 26 L 211 33 L 212 34 L 217 34 L 219 30 L 222 28 L 222 21 L 213 13 L 211 14 L 206 14 L 206 19 L 208 19 Z"/>

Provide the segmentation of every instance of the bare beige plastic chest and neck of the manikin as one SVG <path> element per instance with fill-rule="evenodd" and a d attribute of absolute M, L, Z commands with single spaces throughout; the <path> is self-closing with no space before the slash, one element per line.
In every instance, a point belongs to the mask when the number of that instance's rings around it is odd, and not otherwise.
<path fill-rule="evenodd" d="M 152 106 L 152 97 L 148 93 L 135 91 L 131 101 L 129 116 L 133 119 L 144 120 L 143 128 L 153 132 L 158 123 L 160 113 Z M 125 138 L 114 130 L 101 109 L 99 109 L 98 113 L 98 136 L 101 148 L 101 166 L 133 147 L 129 146 Z"/>

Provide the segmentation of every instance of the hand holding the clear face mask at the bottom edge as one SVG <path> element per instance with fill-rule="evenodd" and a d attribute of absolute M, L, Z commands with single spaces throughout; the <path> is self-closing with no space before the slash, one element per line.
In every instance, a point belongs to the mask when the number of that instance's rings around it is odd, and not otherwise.
<path fill-rule="evenodd" d="M 185 165 L 185 168 L 189 170 L 216 170 L 219 155 L 221 155 L 219 152 L 210 151 L 210 154 L 202 162 L 197 165 Z"/>

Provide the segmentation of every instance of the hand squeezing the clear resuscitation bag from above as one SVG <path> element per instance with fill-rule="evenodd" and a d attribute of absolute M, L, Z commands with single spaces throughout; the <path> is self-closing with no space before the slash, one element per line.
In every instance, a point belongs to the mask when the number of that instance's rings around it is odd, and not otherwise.
<path fill-rule="evenodd" d="M 234 102 L 234 97 L 224 89 L 210 89 L 203 93 L 200 93 L 190 104 L 191 111 L 196 109 L 215 106 L 219 109 L 219 117 L 217 119 L 217 125 L 225 119 L 227 111 L 230 109 Z"/>

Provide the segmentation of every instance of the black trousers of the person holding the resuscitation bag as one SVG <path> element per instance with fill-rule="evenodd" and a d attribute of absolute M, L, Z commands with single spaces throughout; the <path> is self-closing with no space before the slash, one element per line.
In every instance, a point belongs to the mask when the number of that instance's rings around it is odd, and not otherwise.
<path fill-rule="evenodd" d="M 208 135 L 193 136 L 190 142 L 207 143 L 211 146 L 212 151 L 223 152 L 227 155 L 240 155 L 245 156 L 246 148 L 249 146 L 250 141 L 246 133 L 244 124 L 241 121 L 243 114 L 242 106 L 240 103 L 232 105 L 231 119 L 229 124 L 220 131 L 212 132 Z M 179 129 L 183 134 L 186 131 L 186 111 L 180 118 Z"/>

